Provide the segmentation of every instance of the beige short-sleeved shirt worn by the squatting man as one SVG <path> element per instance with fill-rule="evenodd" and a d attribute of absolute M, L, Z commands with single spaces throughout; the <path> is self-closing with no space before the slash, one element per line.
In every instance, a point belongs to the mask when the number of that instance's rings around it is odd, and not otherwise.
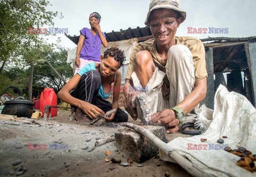
<path fill-rule="evenodd" d="M 189 36 L 175 36 L 176 44 L 186 45 L 193 55 L 194 67 L 195 67 L 195 78 L 196 81 L 207 77 L 206 64 L 205 64 L 205 50 L 203 43 L 195 38 Z M 163 62 L 156 50 L 155 39 L 149 39 L 148 41 L 138 43 L 134 46 L 130 55 L 129 68 L 127 70 L 126 79 L 131 79 L 131 75 L 135 67 L 135 55 L 139 51 L 147 50 L 151 53 L 153 60 L 160 70 L 165 72 L 166 62 Z M 162 68 L 163 67 L 163 68 Z"/>

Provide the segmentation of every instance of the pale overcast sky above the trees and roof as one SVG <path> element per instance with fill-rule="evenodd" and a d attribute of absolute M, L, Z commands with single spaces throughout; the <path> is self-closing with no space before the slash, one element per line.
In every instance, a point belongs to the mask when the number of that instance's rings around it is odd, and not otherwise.
<path fill-rule="evenodd" d="M 48 0 L 52 6 L 49 11 L 62 12 L 64 18 L 54 18 L 55 28 L 68 28 L 68 35 L 78 36 L 79 30 L 89 26 L 89 15 L 101 15 L 100 27 L 104 33 L 112 30 L 145 27 L 150 0 Z M 256 36 L 255 0 L 180 0 L 180 9 L 187 12 L 186 20 L 177 29 L 176 36 L 208 37 L 250 37 Z M 48 27 L 48 26 L 47 26 Z M 51 26 L 49 26 L 51 27 Z M 190 34 L 188 28 L 207 28 L 206 34 Z M 226 34 L 209 32 L 209 28 L 226 28 Z M 227 29 L 228 28 L 228 29 Z M 191 31 L 194 31 L 191 30 Z M 217 33 L 217 34 L 215 34 Z M 49 42 L 61 38 L 59 45 L 73 49 L 76 44 L 65 34 L 47 36 Z"/>

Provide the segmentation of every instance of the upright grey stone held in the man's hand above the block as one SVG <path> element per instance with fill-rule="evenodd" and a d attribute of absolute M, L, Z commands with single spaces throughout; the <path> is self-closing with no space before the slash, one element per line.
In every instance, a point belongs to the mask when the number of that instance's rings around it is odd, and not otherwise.
<path fill-rule="evenodd" d="M 150 110 L 146 100 L 146 93 L 142 92 L 136 95 L 135 102 L 138 118 L 141 120 L 143 125 L 148 125 L 151 116 L 148 116 Z"/>

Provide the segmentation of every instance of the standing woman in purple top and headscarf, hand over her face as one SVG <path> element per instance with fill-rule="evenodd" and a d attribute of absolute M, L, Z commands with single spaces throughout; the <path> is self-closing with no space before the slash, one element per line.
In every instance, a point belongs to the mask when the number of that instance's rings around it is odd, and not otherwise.
<path fill-rule="evenodd" d="M 100 29 L 101 16 L 97 12 L 90 14 L 89 23 L 91 29 L 83 28 L 80 30 L 79 42 L 76 51 L 76 70 L 74 75 L 80 68 L 83 68 L 89 62 L 100 62 L 101 44 L 107 47 L 108 42 L 105 34 Z"/>

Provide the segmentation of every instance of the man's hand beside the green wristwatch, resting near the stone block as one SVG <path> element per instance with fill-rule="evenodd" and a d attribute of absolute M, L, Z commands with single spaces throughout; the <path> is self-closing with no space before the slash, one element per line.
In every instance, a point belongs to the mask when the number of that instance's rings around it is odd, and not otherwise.
<path fill-rule="evenodd" d="M 174 133 L 179 130 L 179 120 L 176 118 L 174 110 L 164 109 L 160 112 L 156 112 L 151 116 L 149 124 L 165 125 L 166 133 Z"/>

